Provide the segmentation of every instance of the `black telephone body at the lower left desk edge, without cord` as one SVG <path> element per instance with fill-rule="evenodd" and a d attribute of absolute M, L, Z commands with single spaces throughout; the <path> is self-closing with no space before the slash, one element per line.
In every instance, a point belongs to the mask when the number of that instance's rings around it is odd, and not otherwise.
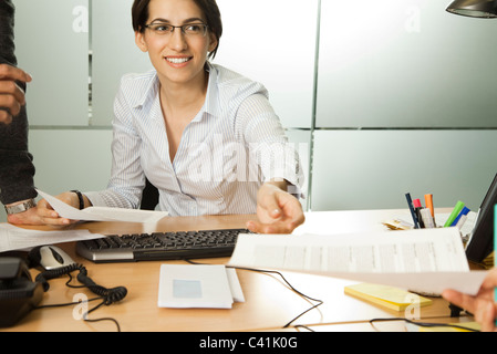
<path fill-rule="evenodd" d="M 0 258 L 0 327 L 14 325 L 43 298 L 40 282 L 33 282 L 20 258 Z"/>

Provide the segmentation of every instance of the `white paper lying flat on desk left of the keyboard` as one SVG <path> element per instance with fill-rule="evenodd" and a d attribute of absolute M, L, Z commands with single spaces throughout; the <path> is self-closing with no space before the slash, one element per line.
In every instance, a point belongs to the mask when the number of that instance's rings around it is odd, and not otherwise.
<path fill-rule="evenodd" d="M 89 230 L 38 231 L 0 223 L 0 252 L 30 249 L 37 246 L 100 239 L 105 236 Z"/>

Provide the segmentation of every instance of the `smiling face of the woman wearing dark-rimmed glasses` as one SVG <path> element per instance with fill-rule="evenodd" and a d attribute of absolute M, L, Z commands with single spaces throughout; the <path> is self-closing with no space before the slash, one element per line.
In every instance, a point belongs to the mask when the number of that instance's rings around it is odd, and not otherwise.
<path fill-rule="evenodd" d="M 174 83 L 186 87 L 189 94 L 197 91 L 196 96 L 205 97 L 206 77 L 205 65 L 208 52 L 213 52 L 218 40 L 214 32 L 207 31 L 207 17 L 199 3 L 206 1 L 137 1 L 148 2 L 146 8 L 148 18 L 145 23 L 137 25 L 136 44 L 148 52 L 151 62 L 157 70 L 162 87 L 178 87 Z M 137 3 L 135 2 L 135 4 Z M 135 11 L 133 15 L 145 19 Z M 194 31 L 191 29 L 199 29 Z M 176 31 L 180 29 L 180 31 Z M 207 35 L 208 32 L 208 35 Z M 179 70 L 180 69 L 180 70 Z M 198 92 L 198 88 L 201 92 Z M 167 94 L 167 92 L 162 92 Z M 195 105 L 194 105 L 195 106 Z"/>

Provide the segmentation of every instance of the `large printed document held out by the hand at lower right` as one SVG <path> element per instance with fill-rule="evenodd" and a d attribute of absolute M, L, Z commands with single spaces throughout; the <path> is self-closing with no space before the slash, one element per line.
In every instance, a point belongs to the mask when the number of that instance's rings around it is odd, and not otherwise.
<path fill-rule="evenodd" d="M 343 236 L 239 235 L 229 266 L 277 269 L 396 287 L 428 294 L 476 294 L 456 228 Z"/>

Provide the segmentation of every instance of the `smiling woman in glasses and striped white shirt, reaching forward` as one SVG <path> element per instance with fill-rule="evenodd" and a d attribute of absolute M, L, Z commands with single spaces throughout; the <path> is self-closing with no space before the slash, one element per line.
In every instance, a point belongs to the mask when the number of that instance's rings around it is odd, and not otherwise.
<path fill-rule="evenodd" d="M 135 0 L 132 13 L 155 70 L 123 77 L 108 188 L 85 194 L 84 207 L 138 208 L 148 179 L 172 216 L 257 212 L 250 230 L 290 233 L 304 220 L 298 153 L 265 86 L 208 61 L 222 33 L 216 1 Z M 74 192 L 59 198 L 80 205 Z M 44 200 L 39 212 L 71 222 Z"/>

